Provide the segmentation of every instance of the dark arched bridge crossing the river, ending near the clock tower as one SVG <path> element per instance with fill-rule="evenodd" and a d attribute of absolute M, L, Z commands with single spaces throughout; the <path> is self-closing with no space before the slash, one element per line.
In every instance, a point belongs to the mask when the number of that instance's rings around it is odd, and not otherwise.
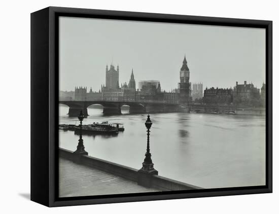
<path fill-rule="evenodd" d="M 175 112 L 179 111 L 179 104 L 171 104 L 160 101 L 59 101 L 69 107 L 69 116 L 78 116 L 82 110 L 88 116 L 87 108 L 90 105 L 99 104 L 103 106 L 103 114 L 121 114 L 121 106 L 130 107 L 130 113 L 152 113 L 152 112 Z"/>

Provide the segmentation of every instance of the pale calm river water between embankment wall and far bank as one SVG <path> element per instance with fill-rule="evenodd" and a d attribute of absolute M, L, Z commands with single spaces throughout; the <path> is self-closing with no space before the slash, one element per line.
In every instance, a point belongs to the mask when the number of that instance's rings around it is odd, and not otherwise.
<path fill-rule="evenodd" d="M 59 123 L 79 123 L 59 105 Z M 142 167 L 146 114 L 104 116 L 88 108 L 84 124 L 121 122 L 117 136 L 83 136 L 90 156 L 136 169 Z M 265 185 L 265 118 L 194 113 L 151 114 L 150 150 L 159 175 L 203 188 Z M 59 130 L 59 147 L 75 151 L 79 136 Z"/>

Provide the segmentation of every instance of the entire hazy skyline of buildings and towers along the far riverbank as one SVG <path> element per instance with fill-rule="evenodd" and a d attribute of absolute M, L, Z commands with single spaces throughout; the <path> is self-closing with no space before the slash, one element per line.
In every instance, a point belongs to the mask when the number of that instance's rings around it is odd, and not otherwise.
<path fill-rule="evenodd" d="M 133 69 L 128 84 L 126 82 L 119 85 L 119 66 L 115 69 L 113 64 L 106 66 L 106 84 L 101 85 L 98 92 L 93 92 L 92 88 L 87 92 L 87 87 L 76 87 L 75 91 L 60 91 L 59 99 L 64 101 L 152 101 L 164 103 L 203 103 L 221 105 L 255 105 L 261 100 L 265 103 L 265 84 L 261 91 L 254 87 L 252 83 L 238 84 L 232 89 L 210 88 L 203 91 L 202 83 L 191 83 L 190 70 L 186 57 L 180 69 L 180 82 L 178 88 L 171 92 L 161 90 L 160 81 L 142 80 L 138 81 L 138 89 L 134 78 Z"/>

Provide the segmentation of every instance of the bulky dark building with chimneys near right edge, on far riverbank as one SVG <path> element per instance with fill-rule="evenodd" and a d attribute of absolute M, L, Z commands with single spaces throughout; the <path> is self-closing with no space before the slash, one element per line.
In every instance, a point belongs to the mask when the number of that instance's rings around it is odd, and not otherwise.
<path fill-rule="evenodd" d="M 260 90 L 254 87 L 253 83 L 238 84 L 236 82 L 233 88 L 233 104 L 235 105 L 258 105 L 260 99 Z"/>

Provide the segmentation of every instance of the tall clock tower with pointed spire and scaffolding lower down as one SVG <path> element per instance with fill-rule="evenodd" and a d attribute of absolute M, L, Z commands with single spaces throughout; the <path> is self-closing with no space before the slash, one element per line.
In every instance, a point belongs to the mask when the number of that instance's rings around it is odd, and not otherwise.
<path fill-rule="evenodd" d="M 179 83 L 179 93 L 180 102 L 188 103 L 190 96 L 190 70 L 187 65 L 186 56 L 184 56 L 183 64 L 180 69 L 180 83 Z"/>

